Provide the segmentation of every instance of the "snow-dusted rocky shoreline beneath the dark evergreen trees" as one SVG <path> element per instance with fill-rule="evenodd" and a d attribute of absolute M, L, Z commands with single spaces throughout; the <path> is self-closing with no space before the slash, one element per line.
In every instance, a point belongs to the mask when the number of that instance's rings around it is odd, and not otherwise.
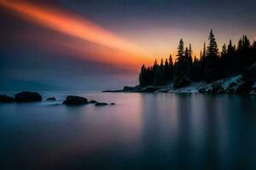
<path fill-rule="evenodd" d="M 172 82 L 166 86 L 135 87 L 125 86 L 120 90 L 105 90 L 108 93 L 172 93 L 172 94 L 247 94 L 256 95 L 256 64 L 243 74 L 224 78 L 216 82 L 192 82 L 183 88 L 173 88 Z"/>

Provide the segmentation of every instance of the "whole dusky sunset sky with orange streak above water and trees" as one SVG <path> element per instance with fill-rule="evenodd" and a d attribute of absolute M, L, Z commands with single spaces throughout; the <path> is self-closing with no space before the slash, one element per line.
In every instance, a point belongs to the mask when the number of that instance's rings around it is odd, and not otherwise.
<path fill-rule="evenodd" d="M 177 53 L 256 39 L 253 0 L 0 0 L 1 90 L 102 90 Z"/>

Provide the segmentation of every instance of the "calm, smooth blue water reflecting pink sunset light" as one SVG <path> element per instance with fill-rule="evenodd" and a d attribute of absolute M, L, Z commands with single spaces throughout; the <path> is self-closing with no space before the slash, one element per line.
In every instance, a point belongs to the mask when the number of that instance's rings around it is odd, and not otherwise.
<path fill-rule="evenodd" d="M 70 93 L 74 94 L 74 93 Z M 0 105 L 1 169 L 256 169 L 256 97 L 83 94 Z"/>

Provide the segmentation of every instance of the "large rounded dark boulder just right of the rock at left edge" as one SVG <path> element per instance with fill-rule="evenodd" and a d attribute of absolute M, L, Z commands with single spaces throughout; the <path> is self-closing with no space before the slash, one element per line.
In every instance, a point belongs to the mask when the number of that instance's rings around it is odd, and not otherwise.
<path fill-rule="evenodd" d="M 42 96 L 36 92 L 20 92 L 15 94 L 16 102 L 35 102 L 42 101 Z"/>

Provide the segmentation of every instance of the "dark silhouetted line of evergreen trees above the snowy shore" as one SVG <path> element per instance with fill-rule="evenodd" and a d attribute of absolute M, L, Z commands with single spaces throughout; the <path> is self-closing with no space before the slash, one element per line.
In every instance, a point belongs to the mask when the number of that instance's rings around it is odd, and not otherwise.
<path fill-rule="evenodd" d="M 228 45 L 224 43 L 219 53 L 218 43 L 211 30 L 208 44 L 204 43 L 200 58 L 193 59 L 192 55 L 191 44 L 184 48 L 181 39 L 177 46 L 177 59 L 174 62 L 170 55 L 165 61 L 161 59 L 160 65 L 155 59 L 154 65 L 142 66 L 139 75 L 140 86 L 164 86 L 173 82 L 174 88 L 181 88 L 191 82 L 209 83 L 240 74 L 256 62 L 256 41 L 251 44 L 247 36 L 242 36 L 237 47 L 230 40 Z"/>

